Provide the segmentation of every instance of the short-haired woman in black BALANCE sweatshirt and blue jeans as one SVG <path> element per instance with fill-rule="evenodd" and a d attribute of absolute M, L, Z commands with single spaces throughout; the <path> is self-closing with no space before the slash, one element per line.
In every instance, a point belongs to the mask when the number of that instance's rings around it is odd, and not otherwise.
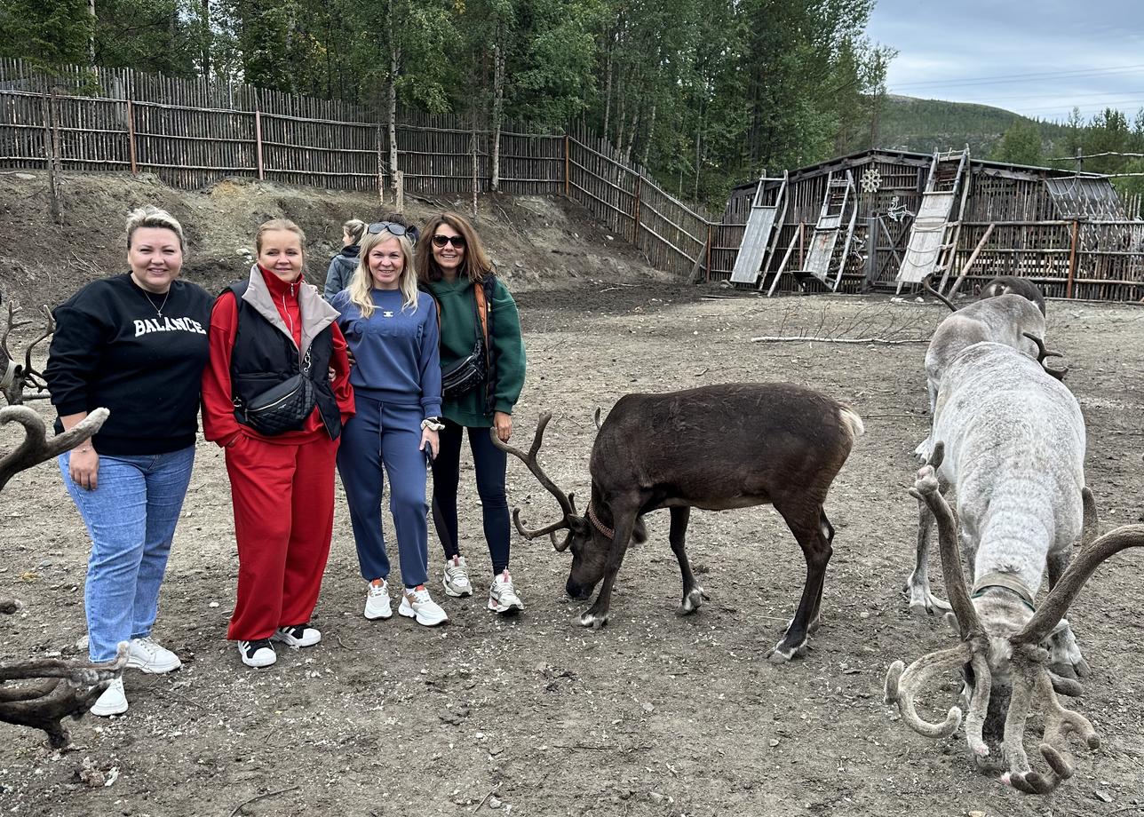
<path fill-rule="evenodd" d="M 168 673 L 178 656 L 151 637 L 159 587 L 194 465 L 199 383 L 207 362 L 210 295 L 178 280 L 183 228 L 142 207 L 127 217 L 129 272 L 93 281 L 54 311 L 45 378 L 56 433 L 104 406 L 100 433 L 58 458 L 67 493 L 92 537 L 84 586 L 88 656 Z M 127 712 L 121 677 L 93 715 Z"/>

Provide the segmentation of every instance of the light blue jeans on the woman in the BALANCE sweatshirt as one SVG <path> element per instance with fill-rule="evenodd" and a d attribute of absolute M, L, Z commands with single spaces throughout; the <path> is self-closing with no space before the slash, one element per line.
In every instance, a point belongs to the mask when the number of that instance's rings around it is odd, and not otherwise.
<path fill-rule="evenodd" d="M 120 641 L 151 634 L 194 446 L 169 454 L 101 455 L 94 491 L 72 482 L 70 457 L 61 454 L 57 462 L 92 536 L 84 589 L 88 656 L 110 661 Z"/>

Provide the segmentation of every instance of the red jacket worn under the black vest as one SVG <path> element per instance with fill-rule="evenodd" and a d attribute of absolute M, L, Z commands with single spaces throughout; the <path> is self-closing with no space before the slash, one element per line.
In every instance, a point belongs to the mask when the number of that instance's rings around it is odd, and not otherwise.
<path fill-rule="evenodd" d="M 302 304 L 307 304 L 308 310 L 331 310 L 333 308 L 318 294 L 318 291 L 302 281 L 287 283 L 269 272 L 262 267 L 255 265 L 251 270 L 251 287 L 265 289 L 278 314 L 286 326 L 291 327 L 294 335 L 295 346 L 302 344 L 303 317 L 310 319 L 311 315 L 302 315 Z M 336 315 L 336 312 L 335 312 Z M 325 316 L 328 317 L 328 316 Z M 353 417 L 353 387 L 350 386 L 350 362 L 345 355 L 345 338 L 342 335 L 336 323 L 329 324 L 333 332 L 334 355 L 331 366 L 334 370 L 331 386 L 334 390 L 334 398 L 337 407 L 342 412 L 342 423 Z M 235 301 L 232 292 L 224 292 L 215 301 L 214 310 L 210 312 L 210 330 L 208 333 L 210 358 L 207 367 L 202 372 L 202 434 L 213 443 L 225 446 L 238 435 L 245 434 L 248 437 L 261 439 L 267 443 L 278 443 L 284 445 L 299 445 L 313 439 L 318 435 L 325 435 L 326 428 L 321 422 L 318 408 L 305 421 L 305 426 L 297 431 L 286 431 L 272 437 L 259 434 L 249 426 L 241 425 L 235 418 L 235 403 L 230 386 L 230 354 L 235 348 L 235 335 L 238 332 L 238 303 Z M 304 350 L 303 350 L 304 351 Z"/>

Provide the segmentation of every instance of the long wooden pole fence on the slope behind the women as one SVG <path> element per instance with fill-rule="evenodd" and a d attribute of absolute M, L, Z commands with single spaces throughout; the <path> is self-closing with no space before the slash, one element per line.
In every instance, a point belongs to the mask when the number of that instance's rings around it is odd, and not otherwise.
<path fill-rule="evenodd" d="M 395 132 L 405 192 L 492 190 L 487 122 L 403 111 Z M 392 185 L 388 121 L 360 105 L 130 70 L 73 68 L 48 79 L 0 60 L 0 167 L 43 167 L 53 145 L 67 170 L 153 173 L 186 189 L 228 176 L 382 196 Z M 715 222 L 606 141 L 507 124 L 499 160 L 501 191 L 566 196 L 657 269 L 706 270 Z"/>

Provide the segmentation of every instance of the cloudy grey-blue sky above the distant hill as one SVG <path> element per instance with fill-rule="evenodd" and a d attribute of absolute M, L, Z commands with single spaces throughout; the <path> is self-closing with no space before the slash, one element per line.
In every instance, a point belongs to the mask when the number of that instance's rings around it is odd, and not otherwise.
<path fill-rule="evenodd" d="M 867 33 L 898 51 L 892 94 L 1060 121 L 1144 106 L 1144 0 L 877 0 Z"/>

